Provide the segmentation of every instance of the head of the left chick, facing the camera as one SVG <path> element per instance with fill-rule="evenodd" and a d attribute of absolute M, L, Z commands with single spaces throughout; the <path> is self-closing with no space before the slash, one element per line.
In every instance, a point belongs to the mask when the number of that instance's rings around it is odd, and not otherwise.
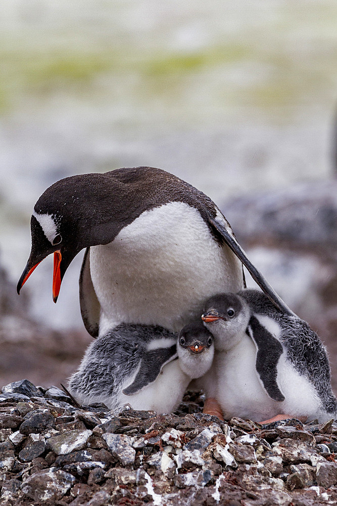
<path fill-rule="evenodd" d="M 177 353 L 180 367 L 189 377 L 203 376 L 213 361 L 212 334 L 200 323 L 185 325 L 178 335 Z"/>

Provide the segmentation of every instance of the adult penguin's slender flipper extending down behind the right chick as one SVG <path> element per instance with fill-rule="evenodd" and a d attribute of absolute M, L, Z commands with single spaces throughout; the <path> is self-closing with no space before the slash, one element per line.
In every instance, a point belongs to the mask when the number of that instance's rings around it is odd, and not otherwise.
<path fill-rule="evenodd" d="M 290 316 L 296 316 L 293 311 L 288 308 L 288 306 L 285 304 L 284 301 L 277 295 L 275 290 L 270 286 L 268 281 L 265 279 L 265 277 L 261 274 L 260 271 L 252 264 L 252 262 L 248 259 L 246 252 L 244 249 L 239 245 L 237 240 L 234 237 L 233 232 L 230 229 L 230 232 L 226 229 L 226 226 L 220 221 L 218 221 L 216 218 L 209 217 L 210 224 L 212 225 L 213 229 L 215 229 L 218 234 L 221 235 L 222 239 L 225 241 L 227 246 L 230 247 L 230 249 L 233 251 L 233 253 L 236 255 L 236 257 L 244 264 L 244 266 L 248 269 L 250 272 L 252 278 L 256 283 L 260 286 L 260 288 L 264 291 L 266 296 L 271 300 L 271 302 L 274 304 L 274 306 L 282 311 L 282 313 L 285 313 Z"/>

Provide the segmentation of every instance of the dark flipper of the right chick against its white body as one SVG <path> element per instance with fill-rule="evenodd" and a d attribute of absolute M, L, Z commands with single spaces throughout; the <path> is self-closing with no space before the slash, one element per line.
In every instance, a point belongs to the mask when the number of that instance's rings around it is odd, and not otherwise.
<path fill-rule="evenodd" d="M 283 353 L 281 343 L 255 316 L 249 320 L 247 333 L 256 346 L 255 365 L 263 388 L 274 401 L 284 401 L 285 397 L 277 385 L 277 363 Z"/>

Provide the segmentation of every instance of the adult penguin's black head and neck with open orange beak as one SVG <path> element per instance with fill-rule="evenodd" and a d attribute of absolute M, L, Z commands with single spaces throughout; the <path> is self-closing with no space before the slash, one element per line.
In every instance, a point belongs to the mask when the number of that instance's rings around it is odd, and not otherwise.
<path fill-rule="evenodd" d="M 37 265 L 54 254 L 53 300 L 62 278 L 81 249 L 111 242 L 132 218 L 118 181 L 105 174 L 62 179 L 37 200 L 30 221 L 31 252 L 17 292 Z"/>

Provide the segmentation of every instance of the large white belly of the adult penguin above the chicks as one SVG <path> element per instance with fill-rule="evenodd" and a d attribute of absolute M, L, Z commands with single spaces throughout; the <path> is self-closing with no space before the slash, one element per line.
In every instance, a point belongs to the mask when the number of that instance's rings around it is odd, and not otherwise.
<path fill-rule="evenodd" d="M 200 316 L 205 299 L 243 287 L 242 264 L 183 202 L 146 211 L 111 243 L 90 247 L 90 275 L 100 335 L 121 322 L 178 331 Z"/>

